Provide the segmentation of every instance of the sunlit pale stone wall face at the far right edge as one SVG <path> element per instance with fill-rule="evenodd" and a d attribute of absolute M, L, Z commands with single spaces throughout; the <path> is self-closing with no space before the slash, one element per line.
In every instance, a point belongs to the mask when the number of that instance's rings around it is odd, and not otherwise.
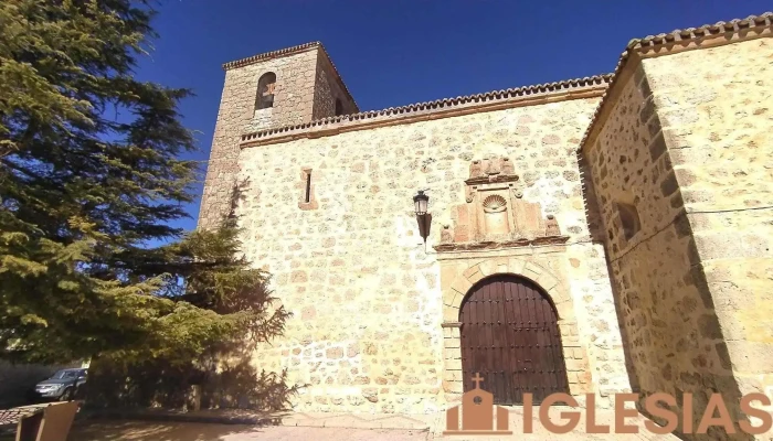
<path fill-rule="evenodd" d="M 741 394 L 773 395 L 773 39 L 645 61 Z M 689 66 L 688 69 L 685 66 Z M 719 343 L 718 343 L 719 345 Z M 767 438 L 765 438 L 767 439 Z"/>

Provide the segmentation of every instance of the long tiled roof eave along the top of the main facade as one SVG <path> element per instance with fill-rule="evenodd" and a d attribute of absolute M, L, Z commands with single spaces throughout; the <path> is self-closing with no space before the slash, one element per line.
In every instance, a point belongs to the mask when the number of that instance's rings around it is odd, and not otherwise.
<path fill-rule="evenodd" d="M 241 138 L 241 143 L 243 144 L 243 147 L 248 147 L 246 144 L 253 144 L 264 139 L 273 139 L 276 137 L 292 138 L 296 135 L 301 136 L 304 133 L 308 133 L 309 131 L 320 131 L 326 127 L 332 128 L 345 125 L 359 126 L 364 122 L 368 122 L 368 120 L 372 120 L 372 122 L 374 123 L 378 121 L 388 122 L 396 119 L 403 120 L 410 118 L 411 116 L 421 117 L 430 114 L 448 112 L 453 110 L 465 110 L 468 108 L 477 108 L 487 104 L 506 104 L 506 101 L 508 100 L 517 101 L 531 98 L 547 99 L 551 96 L 558 97 L 562 94 L 570 95 L 571 93 L 579 94 L 583 92 L 590 92 L 593 93 L 594 96 L 600 96 L 602 92 L 606 88 L 610 78 L 611 74 L 594 75 L 584 78 L 566 79 L 562 82 L 523 86 L 504 90 L 494 90 L 456 98 L 443 98 L 434 101 L 416 103 L 401 107 L 390 107 L 388 109 L 381 110 L 370 110 L 351 115 L 322 118 L 305 123 L 275 127 L 245 133 Z"/>

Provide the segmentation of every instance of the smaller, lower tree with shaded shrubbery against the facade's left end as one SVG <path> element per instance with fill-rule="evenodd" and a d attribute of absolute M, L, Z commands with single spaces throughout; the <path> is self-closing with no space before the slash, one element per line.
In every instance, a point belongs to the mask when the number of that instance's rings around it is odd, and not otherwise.
<path fill-rule="evenodd" d="M 286 372 L 262 372 L 252 363 L 254 344 L 280 333 L 287 314 L 282 308 L 271 313 L 263 308 L 271 300 L 266 275 L 245 269 L 243 258 L 235 257 L 237 233 L 229 220 L 220 230 L 195 232 L 136 260 L 120 259 L 139 273 L 168 275 L 158 295 L 198 308 L 168 316 L 181 332 L 172 334 L 178 338 L 172 344 L 152 343 L 163 347 L 157 357 L 95 359 L 86 394 L 91 406 L 181 408 L 191 385 L 201 386 L 204 408 L 278 410 L 289 405 L 299 385 L 288 385 Z"/>

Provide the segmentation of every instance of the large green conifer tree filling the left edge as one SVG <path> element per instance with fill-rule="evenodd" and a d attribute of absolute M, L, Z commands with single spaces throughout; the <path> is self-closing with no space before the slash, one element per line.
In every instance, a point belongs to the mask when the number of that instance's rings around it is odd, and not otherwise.
<path fill-rule="evenodd" d="M 190 92 L 134 78 L 153 13 L 0 2 L 0 357 L 173 363 L 284 325 L 232 223 L 144 247 L 181 236 L 198 178 Z"/>

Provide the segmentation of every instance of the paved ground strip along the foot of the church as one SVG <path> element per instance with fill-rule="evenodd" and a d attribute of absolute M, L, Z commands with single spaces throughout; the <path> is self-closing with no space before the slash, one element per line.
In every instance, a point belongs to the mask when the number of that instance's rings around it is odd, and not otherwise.
<path fill-rule="evenodd" d="M 564 421 L 560 412 L 566 408 L 552 408 L 550 418 L 555 423 Z M 600 411 L 596 423 L 610 424 L 612 413 Z M 509 428 L 512 435 L 448 435 L 442 434 L 445 429 L 444 415 L 405 416 L 405 415 L 351 415 L 351 413 L 286 413 L 274 423 L 280 426 L 247 426 L 247 424 L 215 424 L 200 422 L 158 422 L 158 421 L 80 421 L 73 427 L 70 440 L 77 441 L 359 441 L 359 440 L 410 440 L 410 441 L 590 441 L 590 440 L 677 440 L 674 435 L 654 435 L 644 429 L 644 418 L 632 419 L 631 424 L 638 426 L 636 434 L 587 434 L 585 433 L 584 416 L 578 427 L 570 433 L 550 433 L 533 417 L 533 433 L 523 433 L 523 411 L 521 408 L 510 409 Z"/>

